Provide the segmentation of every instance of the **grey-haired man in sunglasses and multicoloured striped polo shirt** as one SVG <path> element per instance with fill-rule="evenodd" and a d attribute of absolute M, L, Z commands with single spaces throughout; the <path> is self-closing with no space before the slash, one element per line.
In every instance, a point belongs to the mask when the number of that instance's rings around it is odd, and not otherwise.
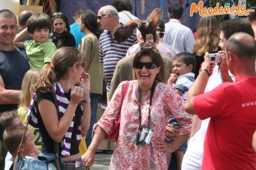
<path fill-rule="evenodd" d="M 110 83 L 113 78 L 116 64 L 119 60 L 126 56 L 129 47 L 137 43 L 136 32 L 123 43 L 119 44 L 114 38 L 116 29 L 123 24 L 119 22 L 117 10 L 111 6 L 101 7 L 98 11 L 98 23 L 100 23 L 104 32 L 100 36 L 100 62 L 103 63 L 105 80 L 107 82 L 107 98 L 110 90 Z"/>

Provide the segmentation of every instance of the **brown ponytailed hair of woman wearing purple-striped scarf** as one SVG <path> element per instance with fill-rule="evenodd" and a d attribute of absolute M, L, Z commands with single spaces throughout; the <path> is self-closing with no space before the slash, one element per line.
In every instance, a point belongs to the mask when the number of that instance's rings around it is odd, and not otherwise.
<path fill-rule="evenodd" d="M 52 55 L 51 66 L 40 74 L 39 80 L 33 86 L 33 91 L 41 90 L 50 92 L 53 90 L 53 82 L 68 78 L 68 70 L 73 64 L 83 59 L 84 54 L 77 48 L 62 47 Z"/>

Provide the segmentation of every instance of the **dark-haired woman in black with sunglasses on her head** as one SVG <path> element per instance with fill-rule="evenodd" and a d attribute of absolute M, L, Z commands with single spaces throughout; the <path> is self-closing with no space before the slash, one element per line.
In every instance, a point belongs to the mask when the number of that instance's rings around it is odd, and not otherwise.
<path fill-rule="evenodd" d="M 70 33 L 70 26 L 68 18 L 62 13 L 58 12 L 52 15 L 53 33 L 49 38 L 57 48 L 60 47 L 76 47 L 75 37 Z"/>

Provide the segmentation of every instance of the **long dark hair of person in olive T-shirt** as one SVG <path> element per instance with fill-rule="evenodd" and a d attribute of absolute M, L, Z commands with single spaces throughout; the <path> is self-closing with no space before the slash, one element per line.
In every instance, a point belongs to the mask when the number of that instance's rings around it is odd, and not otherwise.
<path fill-rule="evenodd" d="M 97 22 L 97 15 L 91 10 L 85 10 L 81 15 L 81 22 L 99 39 L 103 33 L 103 29 L 100 29 L 100 25 Z"/>

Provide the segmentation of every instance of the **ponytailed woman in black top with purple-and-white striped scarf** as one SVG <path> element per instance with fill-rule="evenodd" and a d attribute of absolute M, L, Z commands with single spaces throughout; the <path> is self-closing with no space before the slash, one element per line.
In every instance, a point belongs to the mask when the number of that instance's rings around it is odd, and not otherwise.
<path fill-rule="evenodd" d="M 84 66 L 80 50 L 59 48 L 52 56 L 51 66 L 43 70 L 33 86 L 38 94 L 32 117 L 37 121 L 32 118 L 30 124 L 40 129 L 42 153 L 55 154 L 54 141 L 60 143 L 65 169 L 85 169 L 78 149 L 81 130 L 89 129 L 91 116 L 90 76 Z"/>

